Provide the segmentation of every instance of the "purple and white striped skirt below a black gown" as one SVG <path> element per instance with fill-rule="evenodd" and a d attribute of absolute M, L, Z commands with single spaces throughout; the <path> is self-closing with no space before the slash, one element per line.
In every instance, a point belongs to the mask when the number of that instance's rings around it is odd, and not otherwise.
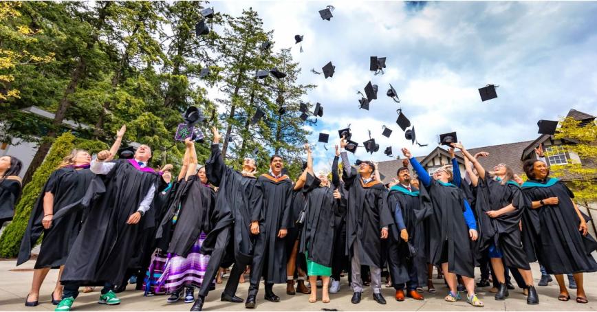
<path fill-rule="evenodd" d="M 206 236 L 203 232 L 199 235 L 186 258 L 174 255 L 166 260 L 166 267 L 164 267 L 163 274 L 158 280 L 158 284 L 161 286 L 155 289 L 158 293 L 164 291 L 174 293 L 180 291 L 182 287 L 201 287 L 209 256 L 200 254 L 199 250 L 201 250 L 201 245 Z"/>

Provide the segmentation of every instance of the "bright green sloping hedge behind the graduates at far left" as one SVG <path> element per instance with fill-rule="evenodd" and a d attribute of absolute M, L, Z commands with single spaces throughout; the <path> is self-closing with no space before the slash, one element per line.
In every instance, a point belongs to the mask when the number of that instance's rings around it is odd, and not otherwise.
<path fill-rule="evenodd" d="M 63 133 L 63 135 L 56 138 L 45 161 L 35 171 L 32 181 L 23 188 L 21 200 L 14 208 L 14 219 L 12 219 L 12 222 L 2 232 L 2 236 L 0 237 L 0 257 L 10 258 L 19 254 L 21 239 L 25 233 L 25 227 L 27 227 L 33 205 L 39 198 L 47 179 L 58 168 L 58 164 L 60 164 L 63 157 L 68 155 L 73 148 L 85 149 L 89 153 L 96 153 L 107 148 L 107 146 L 103 142 L 77 138 L 71 133 Z"/>

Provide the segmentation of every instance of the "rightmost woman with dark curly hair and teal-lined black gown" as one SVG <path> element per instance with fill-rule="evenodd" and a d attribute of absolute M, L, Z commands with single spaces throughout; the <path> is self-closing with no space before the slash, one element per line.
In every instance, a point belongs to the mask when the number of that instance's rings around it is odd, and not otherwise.
<path fill-rule="evenodd" d="M 523 193 L 532 201 L 529 218 L 523 221 L 525 249 L 532 249 L 547 274 L 555 274 L 560 286 L 558 300 L 570 299 L 563 274 L 574 274 L 576 302 L 587 303 L 583 273 L 597 271 L 591 256 L 597 243 L 588 234 L 587 217 L 572 200 L 574 193 L 562 181 L 550 177 L 545 161 L 529 159 L 523 170 L 528 177 L 522 185 Z"/>

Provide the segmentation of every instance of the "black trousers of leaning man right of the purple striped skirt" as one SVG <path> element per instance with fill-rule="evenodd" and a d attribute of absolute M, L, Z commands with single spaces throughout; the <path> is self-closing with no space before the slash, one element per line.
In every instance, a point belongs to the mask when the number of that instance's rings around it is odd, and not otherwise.
<path fill-rule="evenodd" d="M 228 245 L 231 243 L 231 238 L 233 234 L 232 226 L 234 225 L 230 225 L 224 228 L 217 236 L 215 247 L 210 255 L 209 262 L 207 264 L 207 269 L 203 276 L 204 282 L 201 283 L 201 288 L 199 288 L 199 296 L 206 297 L 209 293 L 211 281 L 214 280 L 215 276 L 217 275 L 217 271 L 219 270 L 219 267 L 222 261 L 224 260 L 224 254 L 226 254 L 226 249 Z M 228 282 L 226 282 L 224 293 L 230 296 L 235 296 L 239 287 L 239 279 L 241 278 L 241 274 L 243 274 L 243 272 L 245 271 L 245 267 L 246 266 L 242 265 L 241 263 L 234 264 L 234 266 L 232 267 L 232 271 L 230 271 Z"/>

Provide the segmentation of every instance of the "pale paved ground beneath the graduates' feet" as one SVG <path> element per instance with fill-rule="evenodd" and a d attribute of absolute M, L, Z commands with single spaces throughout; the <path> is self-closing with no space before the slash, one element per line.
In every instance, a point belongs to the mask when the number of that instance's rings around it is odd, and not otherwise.
<path fill-rule="evenodd" d="M 25 308 L 23 302 L 28 293 L 30 282 L 32 279 L 33 261 L 29 261 L 20 267 L 15 267 L 14 260 L 0 260 L 0 311 L 19 310 L 19 311 L 47 311 L 53 310 L 54 306 L 50 303 L 50 293 L 56 282 L 58 270 L 52 270 L 48 274 L 45 283 L 41 289 L 41 302 L 38 307 Z M 17 269 L 15 271 L 14 269 Z M 539 266 L 536 263 L 532 264 L 533 274 L 536 277 L 535 282 L 539 282 Z M 434 274 L 435 275 L 435 274 Z M 224 280 L 226 282 L 226 279 Z M 281 302 L 272 303 L 263 300 L 263 288 L 261 289 L 257 300 L 257 311 L 281 311 L 281 310 L 301 310 L 301 311 L 321 311 L 321 309 L 337 309 L 338 311 L 395 311 L 395 310 L 428 310 L 428 311 L 536 311 L 536 310 L 575 310 L 575 311 L 596 311 L 597 310 L 597 274 L 585 275 L 585 289 L 587 296 L 589 296 L 589 304 L 577 304 L 574 301 L 576 292 L 571 291 L 572 299 L 569 302 L 559 302 L 557 300 L 558 287 L 552 282 L 547 287 L 537 287 L 541 304 L 539 306 L 529 306 L 526 304 L 525 296 L 520 289 L 510 291 L 510 298 L 505 301 L 495 301 L 493 294 L 488 293 L 488 288 L 479 289 L 479 298 L 485 302 L 485 307 L 482 309 L 471 307 L 466 302 L 448 303 L 444 302 L 443 298 L 447 289 L 443 287 L 442 282 L 434 280 L 437 287 L 437 293 L 431 295 L 424 293 L 426 300 L 415 301 L 406 298 L 404 302 L 395 302 L 393 300 L 394 290 L 391 288 L 383 288 L 383 295 L 388 304 L 377 304 L 371 298 L 371 291 L 367 289 L 363 293 L 363 299 L 360 304 L 351 304 L 351 291 L 349 290 L 346 278 L 342 280 L 342 289 L 340 293 L 331 294 L 332 302 L 323 304 L 320 301 L 315 304 L 307 302 L 308 295 L 297 294 L 296 296 L 287 296 L 285 294 L 285 285 L 276 285 L 274 292 L 281 297 Z M 219 296 L 223 285 L 217 285 L 217 289 L 210 293 L 207 302 L 204 305 L 205 311 L 216 310 L 244 310 L 243 304 L 232 304 L 229 302 L 220 302 Z M 74 303 L 74 311 L 117 311 L 117 310 L 135 310 L 135 311 L 188 311 L 191 309 L 191 304 L 184 304 L 179 301 L 175 304 L 166 303 L 166 296 L 143 297 L 142 292 L 133 291 L 133 287 L 129 285 L 129 290 L 120 293 L 119 297 L 122 304 L 118 306 L 107 307 L 102 304 L 97 304 L 99 292 L 81 293 L 79 298 Z M 248 283 L 241 284 L 238 295 L 241 298 L 246 298 Z M 321 291 L 321 290 L 320 290 Z M 246 310 L 245 310 L 246 311 Z"/>

